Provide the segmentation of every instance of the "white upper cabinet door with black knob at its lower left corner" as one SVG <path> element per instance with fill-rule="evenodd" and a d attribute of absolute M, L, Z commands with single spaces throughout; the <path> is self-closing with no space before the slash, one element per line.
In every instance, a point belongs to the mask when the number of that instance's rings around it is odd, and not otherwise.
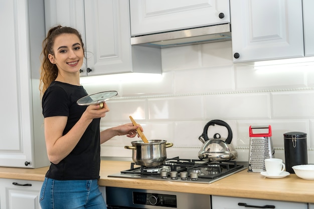
<path fill-rule="evenodd" d="M 230 0 L 230 11 L 234 62 L 304 56 L 302 0 Z"/>

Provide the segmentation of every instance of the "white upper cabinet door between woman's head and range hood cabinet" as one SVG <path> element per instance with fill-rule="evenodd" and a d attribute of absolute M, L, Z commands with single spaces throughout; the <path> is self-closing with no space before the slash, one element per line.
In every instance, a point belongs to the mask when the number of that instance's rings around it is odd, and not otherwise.
<path fill-rule="evenodd" d="M 85 0 L 88 75 L 131 71 L 129 6 L 126 0 Z"/>

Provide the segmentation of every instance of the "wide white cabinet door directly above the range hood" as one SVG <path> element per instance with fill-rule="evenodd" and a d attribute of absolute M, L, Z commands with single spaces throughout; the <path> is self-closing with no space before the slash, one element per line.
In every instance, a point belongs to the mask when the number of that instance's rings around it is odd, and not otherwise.
<path fill-rule="evenodd" d="M 131 35 L 230 22 L 229 0 L 130 0 Z"/>

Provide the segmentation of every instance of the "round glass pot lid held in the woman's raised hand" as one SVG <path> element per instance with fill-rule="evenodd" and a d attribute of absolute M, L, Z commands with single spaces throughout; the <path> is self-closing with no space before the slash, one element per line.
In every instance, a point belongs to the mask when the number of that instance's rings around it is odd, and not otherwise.
<path fill-rule="evenodd" d="M 99 104 L 101 102 L 107 101 L 110 98 L 118 95 L 118 91 L 116 90 L 109 90 L 109 91 L 102 91 L 98 93 L 93 93 L 87 96 L 84 96 L 76 101 L 78 105 L 91 105 L 91 104 Z"/>

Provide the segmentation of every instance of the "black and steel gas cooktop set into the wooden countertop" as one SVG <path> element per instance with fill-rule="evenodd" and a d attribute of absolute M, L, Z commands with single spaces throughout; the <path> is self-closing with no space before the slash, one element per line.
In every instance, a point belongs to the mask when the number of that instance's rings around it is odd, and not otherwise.
<path fill-rule="evenodd" d="M 244 163 L 234 160 L 204 161 L 174 157 L 157 167 L 139 166 L 131 162 L 130 169 L 108 177 L 212 183 L 246 168 Z"/>

